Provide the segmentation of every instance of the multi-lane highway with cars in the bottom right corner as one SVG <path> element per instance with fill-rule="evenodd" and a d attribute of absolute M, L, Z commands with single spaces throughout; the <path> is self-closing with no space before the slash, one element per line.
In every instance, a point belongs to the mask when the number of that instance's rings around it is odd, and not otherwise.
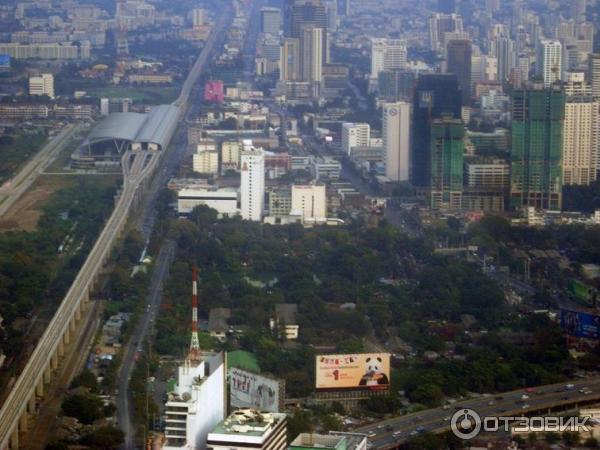
<path fill-rule="evenodd" d="M 571 389 L 567 389 L 568 383 L 573 385 Z M 588 388 L 591 392 L 588 394 L 579 392 L 583 388 Z M 569 406 L 577 402 L 600 401 L 600 376 L 539 386 L 533 390 L 534 392 L 528 392 L 526 389 L 519 389 L 502 394 L 480 396 L 443 408 L 428 409 L 375 422 L 354 431 L 368 434 L 373 448 L 389 449 L 420 432 L 449 431 L 450 418 L 460 409 L 472 409 L 481 417 L 519 417 L 537 411 L 545 414 L 548 408 L 569 409 Z M 523 395 L 528 398 L 523 399 Z"/>

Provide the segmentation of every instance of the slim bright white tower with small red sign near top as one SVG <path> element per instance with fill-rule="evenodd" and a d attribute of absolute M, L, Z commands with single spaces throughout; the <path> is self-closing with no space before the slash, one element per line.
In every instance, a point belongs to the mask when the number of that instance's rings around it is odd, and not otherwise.
<path fill-rule="evenodd" d="M 242 179 L 241 213 L 242 219 L 260 222 L 265 201 L 265 155 L 261 148 L 255 148 L 252 141 L 245 140 L 241 152 Z"/>

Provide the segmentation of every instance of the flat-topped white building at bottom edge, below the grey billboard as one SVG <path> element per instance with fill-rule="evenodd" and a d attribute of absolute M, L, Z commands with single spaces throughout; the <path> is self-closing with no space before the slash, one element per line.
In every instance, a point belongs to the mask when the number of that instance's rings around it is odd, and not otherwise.
<path fill-rule="evenodd" d="M 286 415 L 238 409 L 208 435 L 212 450 L 285 450 Z"/>

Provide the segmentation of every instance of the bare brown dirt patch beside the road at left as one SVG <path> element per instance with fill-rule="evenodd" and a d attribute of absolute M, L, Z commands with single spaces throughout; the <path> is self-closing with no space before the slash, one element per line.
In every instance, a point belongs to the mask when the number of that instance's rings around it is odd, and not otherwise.
<path fill-rule="evenodd" d="M 59 189 L 70 186 L 74 181 L 76 177 L 41 176 L 0 219 L 0 232 L 33 231 L 48 198 Z"/>

